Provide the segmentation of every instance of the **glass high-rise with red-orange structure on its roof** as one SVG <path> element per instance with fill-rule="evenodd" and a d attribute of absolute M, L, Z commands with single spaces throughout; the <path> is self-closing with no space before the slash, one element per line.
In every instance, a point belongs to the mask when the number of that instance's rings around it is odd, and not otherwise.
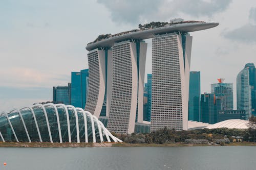
<path fill-rule="evenodd" d="M 221 110 L 233 110 L 233 84 L 223 83 L 224 79 L 218 79 L 219 83 L 211 84 L 211 93 L 221 100 Z"/>

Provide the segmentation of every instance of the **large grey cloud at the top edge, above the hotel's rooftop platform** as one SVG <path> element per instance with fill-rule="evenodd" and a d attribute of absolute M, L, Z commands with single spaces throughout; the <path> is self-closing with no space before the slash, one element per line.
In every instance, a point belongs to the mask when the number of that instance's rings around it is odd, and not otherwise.
<path fill-rule="evenodd" d="M 166 19 L 179 13 L 190 16 L 212 16 L 224 11 L 231 0 L 98 0 L 111 13 L 111 19 L 117 23 L 138 23 L 143 20 Z"/>

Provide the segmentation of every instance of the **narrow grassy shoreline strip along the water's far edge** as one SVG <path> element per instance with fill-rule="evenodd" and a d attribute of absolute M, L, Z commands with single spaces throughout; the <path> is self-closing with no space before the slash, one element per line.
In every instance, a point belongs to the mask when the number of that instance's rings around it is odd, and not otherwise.
<path fill-rule="evenodd" d="M 225 143 L 223 146 L 254 146 L 256 142 Z M 221 147 L 220 144 L 194 143 L 48 143 L 48 142 L 0 142 L 0 148 L 84 148 L 84 147 Z"/>

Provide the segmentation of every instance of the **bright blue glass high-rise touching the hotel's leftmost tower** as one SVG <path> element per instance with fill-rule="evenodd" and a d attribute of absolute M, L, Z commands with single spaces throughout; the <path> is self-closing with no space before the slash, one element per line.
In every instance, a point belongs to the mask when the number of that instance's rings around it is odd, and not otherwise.
<path fill-rule="evenodd" d="M 71 105 L 84 108 L 87 98 L 89 69 L 71 72 Z"/>

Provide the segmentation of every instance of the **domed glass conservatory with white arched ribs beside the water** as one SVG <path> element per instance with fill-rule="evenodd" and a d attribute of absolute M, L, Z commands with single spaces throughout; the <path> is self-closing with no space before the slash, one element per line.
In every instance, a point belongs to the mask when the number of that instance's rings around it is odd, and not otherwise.
<path fill-rule="evenodd" d="M 90 112 L 52 103 L 2 112 L 0 141 L 122 142 Z"/>

